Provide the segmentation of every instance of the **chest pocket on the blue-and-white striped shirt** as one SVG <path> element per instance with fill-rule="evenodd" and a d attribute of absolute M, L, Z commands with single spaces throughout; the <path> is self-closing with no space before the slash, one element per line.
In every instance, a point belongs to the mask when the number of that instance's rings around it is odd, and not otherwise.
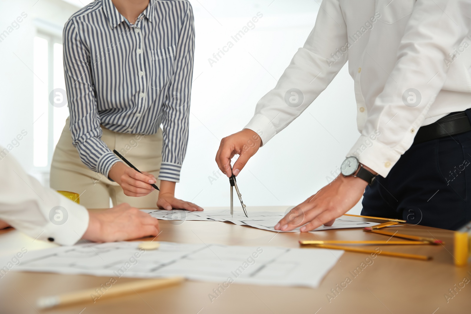
<path fill-rule="evenodd" d="M 153 89 L 163 89 L 171 80 L 176 46 L 158 50 L 150 50 L 151 86 Z"/>

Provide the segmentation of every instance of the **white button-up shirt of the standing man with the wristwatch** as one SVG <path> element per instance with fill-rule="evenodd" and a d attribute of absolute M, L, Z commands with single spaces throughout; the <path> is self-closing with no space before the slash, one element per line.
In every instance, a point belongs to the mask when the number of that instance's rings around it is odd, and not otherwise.
<path fill-rule="evenodd" d="M 348 60 L 361 136 L 347 156 L 386 177 L 421 126 L 471 107 L 469 15 L 469 0 L 322 1 L 306 43 L 245 129 L 266 144 Z"/>

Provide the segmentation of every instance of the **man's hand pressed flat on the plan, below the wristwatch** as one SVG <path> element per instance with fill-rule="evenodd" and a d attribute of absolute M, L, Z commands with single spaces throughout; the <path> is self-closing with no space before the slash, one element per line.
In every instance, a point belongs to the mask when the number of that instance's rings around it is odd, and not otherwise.
<path fill-rule="evenodd" d="M 321 225 L 332 225 L 360 200 L 368 183 L 358 177 L 339 175 L 329 185 L 293 208 L 275 225 L 276 230 L 290 231 L 299 226 L 301 232 Z"/>

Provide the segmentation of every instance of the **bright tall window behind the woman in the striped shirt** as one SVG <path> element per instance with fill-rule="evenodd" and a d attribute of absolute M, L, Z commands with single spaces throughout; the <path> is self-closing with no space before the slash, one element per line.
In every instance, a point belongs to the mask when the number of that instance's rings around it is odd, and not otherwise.
<path fill-rule="evenodd" d="M 49 171 L 69 115 L 61 38 L 43 33 L 34 37 L 33 72 L 33 165 Z"/>

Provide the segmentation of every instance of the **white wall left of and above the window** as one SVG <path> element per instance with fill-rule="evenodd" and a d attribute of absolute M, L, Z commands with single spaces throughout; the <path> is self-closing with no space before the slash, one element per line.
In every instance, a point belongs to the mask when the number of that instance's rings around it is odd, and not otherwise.
<path fill-rule="evenodd" d="M 37 25 L 60 32 L 78 8 L 61 0 L 15 0 L 0 2 L 0 33 L 8 30 L 23 12 L 19 27 L 0 42 L 0 145 L 11 143 L 23 129 L 28 133 L 11 153 L 32 171 L 33 144 L 33 38 Z M 46 25 L 47 24 L 47 25 Z M 47 117 L 47 113 L 41 117 Z"/>

